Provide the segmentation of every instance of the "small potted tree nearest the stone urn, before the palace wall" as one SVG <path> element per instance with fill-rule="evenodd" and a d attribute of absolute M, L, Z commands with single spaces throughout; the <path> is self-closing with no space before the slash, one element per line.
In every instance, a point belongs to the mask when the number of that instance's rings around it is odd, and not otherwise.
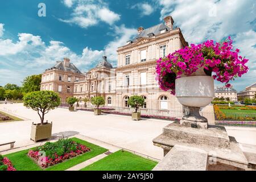
<path fill-rule="evenodd" d="M 135 112 L 131 114 L 131 119 L 137 121 L 141 120 L 141 113 L 138 112 L 138 110 L 144 105 L 144 98 L 141 96 L 131 96 L 128 100 L 128 104 L 135 110 Z"/>

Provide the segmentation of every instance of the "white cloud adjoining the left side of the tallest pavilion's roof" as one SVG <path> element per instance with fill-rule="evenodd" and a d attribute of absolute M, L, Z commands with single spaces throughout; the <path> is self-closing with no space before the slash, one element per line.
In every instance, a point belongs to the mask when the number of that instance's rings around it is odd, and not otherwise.
<path fill-rule="evenodd" d="M 125 45 L 128 40 L 137 34 L 138 32 L 135 28 L 126 28 L 124 24 L 121 26 L 114 26 L 115 39 L 105 46 L 108 59 L 116 64 L 117 48 Z"/>

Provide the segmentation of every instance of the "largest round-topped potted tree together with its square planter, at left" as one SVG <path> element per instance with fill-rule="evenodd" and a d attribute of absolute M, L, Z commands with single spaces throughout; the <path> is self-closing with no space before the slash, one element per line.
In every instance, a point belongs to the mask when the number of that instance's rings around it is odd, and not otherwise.
<path fill-rule="evenodd" d="M 34 142 L 51 138 L 52 123 L 44 122 L 44 115 L 60 105 L 59 94 L 48 90 L 30 92 L 23 97 L 23 101 L 24 106 L 38 112 L 41 121 L 38 124 L 32 123 L 30 138 Z"/>

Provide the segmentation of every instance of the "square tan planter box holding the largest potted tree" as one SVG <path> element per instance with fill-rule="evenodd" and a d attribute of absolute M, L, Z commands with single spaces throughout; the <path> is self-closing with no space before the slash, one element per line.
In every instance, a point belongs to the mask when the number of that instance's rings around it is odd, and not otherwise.
<path fill-rule="evenodd" d="M 49 139 L 52 137 L 52 123 L 34 124 L 31 126 L 30 139 L 37 142 L 38 140 Z"/>

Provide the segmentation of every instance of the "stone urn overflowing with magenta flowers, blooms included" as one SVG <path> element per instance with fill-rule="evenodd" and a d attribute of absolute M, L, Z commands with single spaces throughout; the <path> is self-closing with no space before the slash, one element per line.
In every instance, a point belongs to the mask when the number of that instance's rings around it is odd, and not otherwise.
<path fill-rule="evenodd" d="M 176 95 L 180 104 L 189 108 L 181 124 L 207 129 L 207 118 L 199 114 L 199 109 L 210 104 L 214 97 L 213 80 L 230 87 L 230 80 L 249 70 L 245 65 L 248 60 L 238 55 L 240 50 L 234 50 L 232 43 L 230 37 L 221 43 L 207 40 L 156 61 L 160 88 Z"/>

